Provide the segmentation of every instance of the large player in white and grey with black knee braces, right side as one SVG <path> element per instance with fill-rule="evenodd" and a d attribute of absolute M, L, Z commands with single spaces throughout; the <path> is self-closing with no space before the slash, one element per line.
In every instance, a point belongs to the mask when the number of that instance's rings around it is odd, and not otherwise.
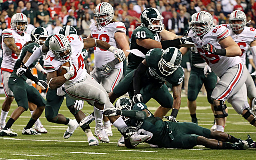
<path fill-rule="evenodd" d="M 246 94 L 248 70 L 238 57 L 242 54 L 239 46 L 232 40 L 229 30 L 224 26 L 213 27 L 212 15 L 198 12 L 192 17 L 192 30 L 188 33 L 201 57 L 220 81 L 212 91 L 214 116 L 217 130 L 224 131 L 226 112 L 225 100 L 232 105 L 238 114 L 256 126 L 256 118 L 250 111 Z"/>

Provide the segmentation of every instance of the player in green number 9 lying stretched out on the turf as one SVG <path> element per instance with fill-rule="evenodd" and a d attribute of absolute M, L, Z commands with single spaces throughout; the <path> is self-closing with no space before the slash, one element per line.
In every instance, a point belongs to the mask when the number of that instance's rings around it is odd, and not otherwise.
<path fill-rule="evenodd" d="M 130 118 L 128 125 L 136 127 L 137 134 L 150 135 L 151 138 L 145 142 L 157 145 L 159 148 L 193 148 L 196 145 L 203 145 L 212 149 L 245 150 L 248 148 L 248 142 L 252 144 L 249 136 L 247 140 L 241 140 L 221 131 L 211 131 L 192 122 L 162 121 L 161 118 L 154 117 L 144 103 L 136 103 L 132 110 L 128 110 L 127 106 L 122 104 L 117 109 L 108 108 L 103 114 Z M 126 110 L 122 110 L 123 107 Z M 129 108 L 131 107 L 132 105 Z M 125 142 L 126 147 L 132 147 L 128 139 Z"/>

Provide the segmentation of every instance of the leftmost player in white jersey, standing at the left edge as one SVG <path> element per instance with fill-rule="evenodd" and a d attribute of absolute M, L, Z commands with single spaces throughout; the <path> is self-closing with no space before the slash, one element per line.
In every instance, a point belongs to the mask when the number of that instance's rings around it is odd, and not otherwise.
<path fill-rule="evenodd" d="M 13 71 L 14 64 L 20 55 L 22 46 L 30 41 L 30 35 L 26 33 L 28 20 L 26 15 L 17 13 L 12 16 L 11 28 L 5 29 L 2 32 L 2 47 L 3 47 L 3 62 L 1 65 L 1 77 L 4 86 L 6 99 L 2 105 L 0 118 L 0 129 L 5 126 L 5 120 L 8 115 L 10 105 L 14 99 L 13 93 L 8 86 L 9 77 Z M 37 66 L 38 67 L 38 66 Z M 31 114 L 35 107 L 29 104 Z M 38 119 L 35 123 L 35 129 L 39 132 L 47 132 Z"/>

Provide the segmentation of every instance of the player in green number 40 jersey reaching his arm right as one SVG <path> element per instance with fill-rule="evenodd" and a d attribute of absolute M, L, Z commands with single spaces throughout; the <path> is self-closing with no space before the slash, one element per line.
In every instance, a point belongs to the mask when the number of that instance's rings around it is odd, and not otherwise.
<path fill-rule="evenodd" d="M 128 56 L 128 67 L 125 75 L 135 70 L 138 65 L 144 60 L 146 53 L 153 48 L 166 49 L 171 46 L 180 46 L 185 44 L 193 44 L 189 37 L 177 36 L 172 32 L 164 30 L 164 24 L 162 24 L 163 17 L 156 8 L 147 8 L 140 15 L 142 25 L 137 27 L 132 32 L 131 46 Z M 158 61 L 156 62 L 158 63 Z M 122 84 L 119 83 L 112 92 L 109 93 L 110 102 L 114 102 L 124 91 Z M 122 82 L 121 81 L 121 82 Z M 164 84 L 163 88 L 167 88 Z M 133 93 L 129 93 L 130 98 Z M 154 116 L 165 116 L 170 108 L 159 108 L 154 112 Z"/>

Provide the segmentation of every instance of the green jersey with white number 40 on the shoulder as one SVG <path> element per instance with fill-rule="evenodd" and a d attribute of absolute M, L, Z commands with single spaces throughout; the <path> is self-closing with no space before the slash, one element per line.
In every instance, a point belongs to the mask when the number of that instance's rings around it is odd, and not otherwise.
<path fill-rule="evenodd" d="M 152 39 L 160 42 L 161 38 L 157 32 L 152 32 L 145 26 L 138 26 L 133 32 L 132 32 L 132 40 L 131 40 L 131 47 L 130 49 L 137 49 L 140 50 L 140 52 L 146 54 L 149 49 L 144 48 L 142 46 L 139 46 L 136 43 L 137 39 Z M 139 56 L 134 55 L 133 53 L 129 53 L 128 56 L 128 68 L 136 69 L 140 62 L 142 62 L 144 58 L 141 58 Z"/>

